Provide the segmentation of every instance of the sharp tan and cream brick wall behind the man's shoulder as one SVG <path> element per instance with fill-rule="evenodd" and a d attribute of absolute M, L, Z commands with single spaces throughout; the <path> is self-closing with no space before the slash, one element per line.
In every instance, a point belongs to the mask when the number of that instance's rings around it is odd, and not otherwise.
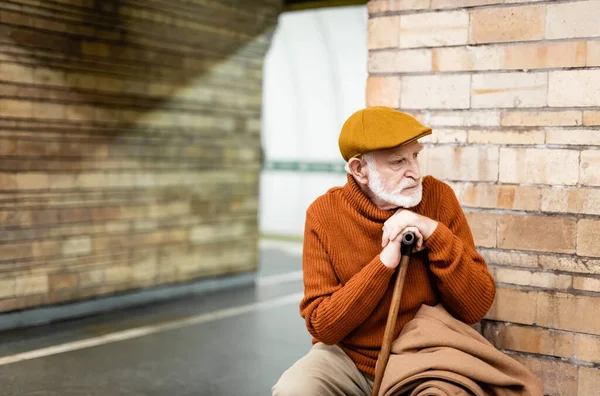
<path fill-rule="evenodd" d="M 600 389 L 600 1 L 372 0 L 367 101 L 434 128 L 498 284 L 483 324 L 549 395 Z"/>

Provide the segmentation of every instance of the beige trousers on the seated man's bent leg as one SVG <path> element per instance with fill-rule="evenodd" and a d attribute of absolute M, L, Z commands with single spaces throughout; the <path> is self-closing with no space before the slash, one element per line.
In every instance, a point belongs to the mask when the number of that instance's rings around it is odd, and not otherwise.
<path fill-rule="evenodd" d="M 337 345 L 317 343 L 273 386 L 273 396 L 370 396 L 373 379 Z"/>

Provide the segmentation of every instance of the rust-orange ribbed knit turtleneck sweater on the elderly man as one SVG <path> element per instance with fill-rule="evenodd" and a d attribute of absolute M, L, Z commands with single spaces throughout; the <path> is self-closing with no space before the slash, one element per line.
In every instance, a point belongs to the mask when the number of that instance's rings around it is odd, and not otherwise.
<path fill-rule="evenodd" d="M 411 257 L 394 339 L 422 304 L 442 302 L 457 319 L 478 322 L 496 289 L 454 191 L 426 176 L 423 199 L 411 210 L 439 225 L 425 249 Z M 379 259 L 383 223 L 394 213 L 378 209 L 350 175 L 345 186 L 330 189 L 306 213 L 300 313 L 313 343 L 338 344 L 371 376 L 397 273 Z"/>

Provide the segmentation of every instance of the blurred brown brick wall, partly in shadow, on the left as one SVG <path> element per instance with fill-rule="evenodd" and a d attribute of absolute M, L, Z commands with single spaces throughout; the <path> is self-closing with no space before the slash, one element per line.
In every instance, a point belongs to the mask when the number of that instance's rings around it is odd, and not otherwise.
<path fill-rule="evenodd" d="M 278 3 L 0 3 L 0 311 L 256 267 Z"/>

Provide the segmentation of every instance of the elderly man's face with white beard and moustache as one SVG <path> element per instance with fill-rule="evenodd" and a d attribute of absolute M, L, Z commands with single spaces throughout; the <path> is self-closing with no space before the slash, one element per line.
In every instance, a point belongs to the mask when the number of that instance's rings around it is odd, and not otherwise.
<path fill-rule="evenodd" d="M 391 150 L 377 151 L 367 158 L 369 189 L 380 200 L 410 208 L 421 202 L 422 178 L 418 155 L 419 142 Z"/>

